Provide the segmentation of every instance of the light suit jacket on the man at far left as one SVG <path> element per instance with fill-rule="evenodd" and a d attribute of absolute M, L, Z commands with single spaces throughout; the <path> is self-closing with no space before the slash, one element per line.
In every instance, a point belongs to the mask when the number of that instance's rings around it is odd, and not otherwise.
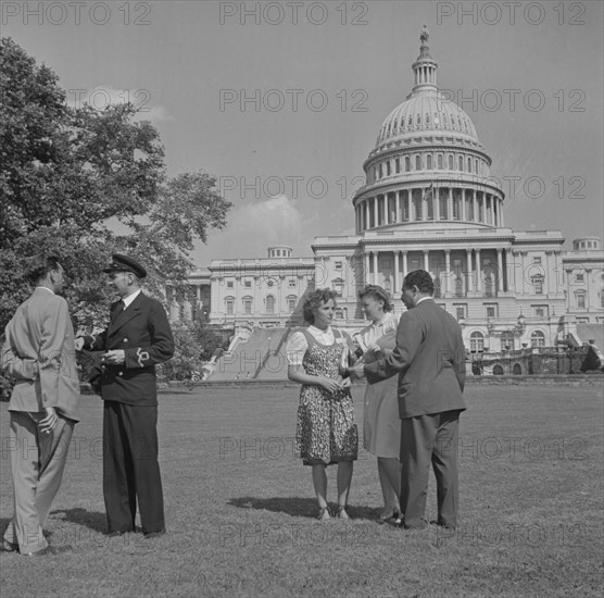
<path fill-rule="evenodd" d="M 79 379 L 67 302 L 37 287 L 4 331 L 2 371 L 16 378 L 9 411 L 43 412 L 54 407 L 78 420 Z"/>

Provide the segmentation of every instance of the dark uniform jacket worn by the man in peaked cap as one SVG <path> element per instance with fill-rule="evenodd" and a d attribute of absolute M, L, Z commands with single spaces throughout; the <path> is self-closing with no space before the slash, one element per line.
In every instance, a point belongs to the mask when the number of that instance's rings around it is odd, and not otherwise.
<path fill-rule="evenodd" d="M 126 361 L 100 365 L 90 384 L 108 401 L 135 406 L 158 404 L 155 365 L 174 354 L 174 338 L 163 306 L 142 292 L 117 315 L 121 302 L 111 306 L 110 324 L 97 338 L 87 337 L 92 351 L 123 349 Z"/>

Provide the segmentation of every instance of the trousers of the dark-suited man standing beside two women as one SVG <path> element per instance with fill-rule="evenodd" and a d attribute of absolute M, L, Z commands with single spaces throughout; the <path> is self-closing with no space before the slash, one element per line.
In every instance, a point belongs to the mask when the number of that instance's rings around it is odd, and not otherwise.
<path fill-rule="evenodd" d="M 438 524 L 457 525 L 460 411 L 401 420 L 401 510 L 405 527 L 421 528 L 430 462 L 437 479 Z"/>

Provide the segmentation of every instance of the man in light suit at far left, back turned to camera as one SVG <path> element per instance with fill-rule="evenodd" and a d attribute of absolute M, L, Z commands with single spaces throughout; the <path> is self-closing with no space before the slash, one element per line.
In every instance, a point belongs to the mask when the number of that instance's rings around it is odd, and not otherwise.
<path fill-rule="evenodd" d="M 26 556 L 71 548 L 48 545 L 42 526 L 61 486 L 70 440 L 77 422 L 79 381 L 74 329 L 58 254 L 35 257 L 33 295 L 5 328 L 2 371 L 16 378 L 9 403 L 14 515 L 2 549 Z"/>

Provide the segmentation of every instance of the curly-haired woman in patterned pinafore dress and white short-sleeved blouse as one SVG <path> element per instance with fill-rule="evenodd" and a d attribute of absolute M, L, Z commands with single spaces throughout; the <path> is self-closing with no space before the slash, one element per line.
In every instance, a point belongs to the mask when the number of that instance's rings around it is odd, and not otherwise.
<path fill-rule="evenodd" d="M 330 519 L 327 507 L 327 465 L 338 463 L 338 516 L 349 519 L 348 496 L 352 462 L 356 460 L 358 433 L 350 395 L 348 367 L 351 341 L 331 327 L 336 294 L 318 289 L 304 301 L 307 328 L 295 332 L 287 346 L 288 377 L 302 385 L 298 408 L 295 447 L 313 469 L 319 520 Z"/>

